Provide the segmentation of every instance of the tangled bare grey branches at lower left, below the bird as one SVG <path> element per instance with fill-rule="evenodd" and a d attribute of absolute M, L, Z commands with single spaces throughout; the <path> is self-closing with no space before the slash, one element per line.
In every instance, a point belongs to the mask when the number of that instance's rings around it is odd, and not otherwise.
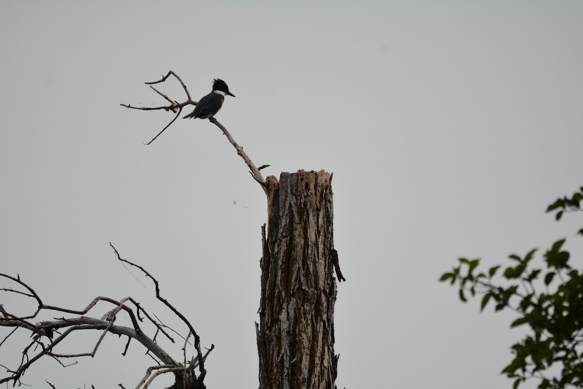
<path fill-rule="evenodd" d="M 111 245 L 111 243 L 110 243 Z M 73 310 L 67 309 L 57 306 L 50 306 L 43 303 L 40 296 L 27 285 L 24 281 L 20 280 L 20 277 L 12 277 L 8 274 L 1 274 L 0 278 L 3 278 L 8 281 L 9 283 L 12 282 L 14 287 L 0 287 L 0 292 L 16 294 L 20 296 L 25 296 L 26 298 L 33 299 L 36 304 L 36 310 L 27 315 L 17 315 L 10 312 L 9 309 L 6 309 L 3 305 L 0 304 L 0 327 L 14 327 L 12 331 L 0 341 L 0 347 L 2 344 L 6 342 L 6 340 L 13 334 L 16 333 L 18 330 L 26 330 L 30 331 L 32 341 L 29 345 L 27 345 L 22 351 L 22 358 L 20 359 L 19 366 L 13 369 L 10 369 L 6 366 L 2 366 L 6 369 L 8 375 L 6 377 L 0 377 L 0 383 L 8 383 L 12 381 L 13 385 L 17 383 L 21 384 L 21 377 L 26 372 L 27 369 L 33 363 L 35 363 L 38 359 L 43 356 L 50 356 L 57 360 L 63 367 L 74 365 L 76 362 L 70 363 L 69 365 L 65 365 L 62 360 L 66 358 L 79 358 L 82 356 L 94 356 L 99 349 L 101 341 L 106 336 L 107 333 L 116 334 L 119 336 L 126 336 L 128 337 L 128 342 L 125 345 L 124 352 L 122 355 L 128 351 L 129 344 L 132 339 L 141 343 L 147 349 L 147 355 L 150 355 L 154 360 L 156 360 L 157 365 L 149 367 L 147 369 L 146 375 L 140 381 L 136 389 L 146 389 L 150 386 L 152 381 L 156 379 L 156 377 L 160 376 L 164 373 L 173 373 L 174 374 L 174 385 L 170 388 L 172 389 L 202 389 L 205 388 L 203 381 L 206 376 L 206 369 L 205 369 L 205 359 L 206 356 L 209 354 L 210 351 L 215 347 L 211 345 L 210 349 L 206 351 L 203 355 L 201 351 L 201 344 L 200 338 L 196 331 L 192 327 L 192 324 L 178 312 L 168 301 L 160 296 L 160 289 L 159 284 L 156 278 L 154 278 L 151 274 L 149 274 L 143 267 L 138 266 L 134 263 L 131 263 L 128 260 L 122 259 L 120 254 L 117 252 L 115 247 L 111 245 L 114 249 L 115 254 L 117 255 L 117 259 L 130 264 L 131 266 L 135 266 L 141 270 L 146 277 L 150 278 L 154 285 L 156 285 L 156 298 L 159 299 L 161 302 L 164 303 L 176 316 L 178 316 L 182 323 L 184 323 L 188 329 L 189 333 L 184 338 L 184 346 L 183 346 L 183 353 L 182 353 L 182 361 L 178 362 L 178 360 L 174 359 L 168 352 L 160 347 L 156 338 L 159 334 L 162 334 L 172 343 L 175 343 L 175 340 L 170 336 L 168 333 L 173 331 L 171 328 L 165 326 L 163 323 L 160 323 L 159 320 L 154 320 L 149 313 L 146 312 L 143 307 L 136 302 L 131 297 L 126 297 L 121 300 L 115 300 L 103 296 L 98 296 L 93 299 L 92 302 L 82 310 Z M 113 307 L 106 313 L 104 313 L 101 317 L 89 317 L 85 316 L 89 313 L 93 308 L 96 306 L 98 302 L 106 302 L 113 305 Z M 34 323 L 34 319 L 37 316 L 40 316 L 40 313 L 52 311 L 52 312 L 59 312 L 59 313 L 68 313 L 73 315 L 81 315 L 75 317 L 67 317 L 64 316 L 54 318 L 54 320 L 48 321 L 40 321 L 38 323 Z M 129 317 L 131 321 L 131 327 L 125 326 L 118 326 L 115 324 L 115 320 L 117 315 L 120 312 L 124 312 Z M 157 318 L 156 318 L 157 319 Z M 149 323 L 153 324 L 156 328 L 154 336 L 150 338 L 146 335 L 140 326 L 140 323 L 143 323 L 144 320 L 149 321 Z M 80 330 L 98 330 L 102 331 L 99 340 L 97 340 L 95 346 L 93 347 L 92 351 L 83 352 L 83 353 L 57 353 L 54 351 L 55 346 L 64 342 L 65 338 L 68 337 L 74 331 Z M 177 333 L 178 334 L 178 333 Z M 196 350 L 195 355 L 187 360 L 187 345 L 189 344 L 189 338 L 194 338 L 194 348 Z M 38 351 L 37 351 L 38 350 Z M 156 370 L 156 371 L 154 371 Z M 196 372 L 198 370 L 198 374 Z M 51 384 L 52 386 L 52 384 Z M 170 389 L 168 388 L 168 389 Z"/>

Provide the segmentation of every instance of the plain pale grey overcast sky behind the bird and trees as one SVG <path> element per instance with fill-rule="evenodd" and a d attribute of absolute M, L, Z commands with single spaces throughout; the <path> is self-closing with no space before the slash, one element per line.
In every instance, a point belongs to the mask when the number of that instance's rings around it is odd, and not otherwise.
<path fill-rule="evenodd" d="M 168 70 L 195 100 L 220 77 L 237 97 L 217 119 L 264 175 L 334 173 L 338 387 L 511 387 L 514 316 L 437 280 L 460 256 L 493 266 L 564 237 L 583 251 L 577 215 L 544 212 L 583 184 L 582 20 L 578 1 L 2 1 L 0 271 L 51 305 L 131 295 L 185 333 L 112 242 L 215 344 L 207 387 L 257 388 L 264 192 L 209 121 L 144 146 L 173 114 L 119 105 L 165 104 L 144 82 Z M 23 383 L 134 387 L 153 361 L 124 346 L 43 360 Z"/>

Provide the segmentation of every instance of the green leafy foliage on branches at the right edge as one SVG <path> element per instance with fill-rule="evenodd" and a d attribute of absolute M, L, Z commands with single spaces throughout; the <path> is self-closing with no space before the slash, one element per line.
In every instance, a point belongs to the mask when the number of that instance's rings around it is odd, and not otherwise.
<path fill-rule="evenodd" d="M 582 199 L 583 187 L 571 198 L 557 199 L 547 212 L 556 211 L 558 221 L 566 212 L 581 211 Z M 578 235 L 583 235 L 583 228 Z M 538 250 L 533 249 L 524 257 L 511 254 L 512 264 L 504 269 L 494 266 L 483 273 L 478 269 L 479 259 L 460 258 L 459 266 L 441 275 L 441 282 L 458 285 L 462 302 L 468 294 L 481 294 L 481 310 L 492 302 L 496 312 L 518 313 L 511 328 L 530 327 L 512 345 L 514 359 L 502 370 L 514 379 L 514 389 L 532 377 L 540 379 L 539 389 L 583 388 L 583 271 L 569 265 L 565 241 L 554 242 L 543 254 L 546 266 L 542 268 L 533 267 Z M 560 370 L 560 374 L 550 376 L 552 366 L 552 372 Z"/>

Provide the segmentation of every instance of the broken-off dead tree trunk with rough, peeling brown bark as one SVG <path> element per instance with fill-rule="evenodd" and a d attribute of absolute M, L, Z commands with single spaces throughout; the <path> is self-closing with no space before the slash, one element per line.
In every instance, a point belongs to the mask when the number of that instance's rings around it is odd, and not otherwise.
<path fill-rule="evenodd" d="M 332 175 L 282 173 L 266 181 L 259 389 L 333 389 L 333 313 L 338 255 L 333 248 Z"/>

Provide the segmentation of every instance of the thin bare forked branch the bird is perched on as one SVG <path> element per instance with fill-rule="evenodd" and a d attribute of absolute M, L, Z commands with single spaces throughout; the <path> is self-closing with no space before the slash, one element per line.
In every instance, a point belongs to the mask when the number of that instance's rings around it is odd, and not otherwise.
<path fill-rule="evenodd" d="M 157 90 L 156 88 L 154 88 L 152 85 L 153 84 L 159 84 L 161 82 L 166 81 L 166 79 L 170 76 L 174 76 L 178 82 L 180 82 L 180 84 L 182 85 L 182 88 L 184 88 L 184 91 L 186 93 L 187 96 L 187 100 L 184 102 L 178 102 L 176 100 L 172 100 L 170 97 L 166 96 L 165 94 L 161 93 L 159 90 Z M 127 107 L 127 108 L 132 108 L 132 109 L 142 109 L 143 111 L 156 111 L 156 110 L 160 110 L 163 109 L 164 111 L 172 111 L 176 114 L 176 116 L 174 116 L 174 119 L 172 119 L 172 121 L 170 123 L 168 123 L 168 125 L 166 127 L 164 127 L 159 133 L 158 135 L 154 136 L 154 138 L 152 140 L 150 140 L 150 142 L 146 143 L 146 144 L 150 144 L 152 142 L 154 142 L 154 140 L 160 136 L 161 133 L 164 132 L 164 130 L 166 130 L 168 127 L 170 127 L 170 125 L 172 123 L 174 123 L 174 121 L 176 121 L 176 119 L 178 119 L 178 117 L 180 116 L 181 112 L 182 112 L 182 108 L 184 108 L 186 105 L 196 105 L 197 102 L 192 100 L 192 98 L 190 97 L 190 93 L 188 92 L 188 88 L 186 87 L 186 85 L 184 84 L 184 82 L 182 82 L 182 80 L 180 79 L 180 77 L 178 77 L 178 75 L 176 73 L 174 73 L 172 70 L 170 70 L 170 72 L 168 72 L 168 74 L 166 76 L 163 76 L 160 80 L 157 81 L 153 81 L 153 82 L 147 82 L 147 85 L 150 86 L 150 88 L 152 88 L 153 91 L 155 91 L 157 94 L 159 94 L 161 97 L 163 97 L 166 101 L 170 102 L 170 105 L 161 105 L 160 107 L 134 107 L 132 105 L 129 104 L 120 104 L 122 107 Z M 209 121 L 212 122 L 214 125 L 216 125 L 218 128 L 220 128 L 220 130 L 223 132 L 223 134 L 227 137 L 227 139 L 229 139 L 229 142 L 233 145 L 233 147 L 235 148 L 235 150 L 237 150 L 237 154 L 243 158 L 243 160 L 245 161 L 245 164 L 247 164 L 247 167 L 250 170 L 250 174 L 251 176 L 255 179 L 255 181 L 257 181 L 262 188 L 264 188 L 264 190 L 266 191 L 265 188 L 265 179 L 263 178 L 263 176 L 261 175 L 261 172 L 259 172 L 261 169 L 268 167 L 269 165 L 263 165 L 261 168 L 257 168 L 255 167 L 255 164 L 251 161 L 251 158 L 248 157 L 248 155 L 245 153 L 245 151 L 243 151 L 243 147 L 239 146 L 237 144 L 237 142 L 235 142 L 235 140 L 233 139 L 233 137 L 231 136 L 231 134 L 229 133 L 229 131 L 227 131 L 226 128 L 224 128 L 224 126 L 219 123 L 219 121 L 217 121 L 217 119 L 215 118 L 209 118 Z M 267 192 L 265 192 L 267 193 Z"/>

